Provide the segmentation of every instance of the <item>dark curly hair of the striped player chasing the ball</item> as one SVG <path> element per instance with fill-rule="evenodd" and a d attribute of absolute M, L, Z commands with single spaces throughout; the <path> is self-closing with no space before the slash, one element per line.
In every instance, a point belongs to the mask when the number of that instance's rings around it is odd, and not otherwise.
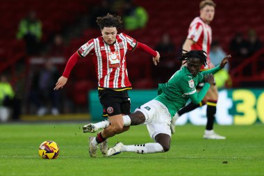
<path fill-rule="evenodd" d="M 122 20 L 120 16 L 108 13 L 104 17 L 97 17 L 97 25 L 100 29 L 104 29 L 104 27 L 116 27 L 120 29 L 122 28 Z"/>

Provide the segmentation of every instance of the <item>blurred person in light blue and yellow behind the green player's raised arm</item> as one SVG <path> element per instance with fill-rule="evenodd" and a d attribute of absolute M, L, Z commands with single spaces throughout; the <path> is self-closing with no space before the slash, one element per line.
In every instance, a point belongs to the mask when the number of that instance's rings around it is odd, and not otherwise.
<path fill-rule="evenodd" d="M 211 44 L 211 51 L 209 55 L 211 58 L 211 63 L 216 66 L 221 63 L 222 58 L 226 56 L 226 53 L 223 51 L 222 47 L 220 46 L 220 43 L 217 40 L 214 40 Z M 217 88 L 230 88 L 232 83 L 231 77 L 229 75 L 229 63 L 227 63 L 222 70 L 217 72 L 214 77 Z"/>

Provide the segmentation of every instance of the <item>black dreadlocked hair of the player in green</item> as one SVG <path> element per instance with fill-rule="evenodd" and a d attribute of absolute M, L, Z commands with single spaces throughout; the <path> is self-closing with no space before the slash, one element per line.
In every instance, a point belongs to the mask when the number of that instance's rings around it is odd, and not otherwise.
<path fill-rule="evenodd" d="M 184 51 L 185 53 L 183 53 Z M 185 51 L 184 49 L 181 50 L 181 54 L 179 54 L 179 61 L 188 61 L 189 58 L 199 58 L 199 61 L 202 65 L 207 65 L 207 53 L 203 50 L 191 50 L 191 51 Z"/>

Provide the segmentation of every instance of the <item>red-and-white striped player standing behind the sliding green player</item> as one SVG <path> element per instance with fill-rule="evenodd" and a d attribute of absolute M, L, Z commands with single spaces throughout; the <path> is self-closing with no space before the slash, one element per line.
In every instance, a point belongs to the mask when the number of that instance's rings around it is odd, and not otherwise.
<path fill-rule="evenodd" d="M 206 70 L 208 68 L 214 67 L 210 61 L 209 53 L 212 42 L 212 30 L 211 26 L 209 26 L 210 22 L 213 20 L 215 15 L 215 3 L 211 0 L 204 0 L 200 3 L 200 17 L 196 17 L 192 20 L 188 37 L 183 44 L 183 49 L 185 51 L 190 50 L 204 50 L 207 53 L 207 66 L 204 65 L 201 67 L 201 70 Z M 207 124 L 206 130 L 204 132 L 204 138 L 208 139 L 225 139 L 224 136 L 220 136 L 213 131 L 213 123 L 215 120 L 216 113 L 216 105 L 218 99 L 218 91 L 217 87 L 211 86 L 208 90 L 206 97 L 203 99 L 200 104 L 190 103 L 187 106 L 183 107 L 174 118 L 172 118 L 171 129 L 172 133 L 174 133 L 175 122 L 179 116 L 183 115 L 183 113 L 187 113 L 196 109 L 199 106 L 203 106 L 205 103 L 207 104 Z"/>

